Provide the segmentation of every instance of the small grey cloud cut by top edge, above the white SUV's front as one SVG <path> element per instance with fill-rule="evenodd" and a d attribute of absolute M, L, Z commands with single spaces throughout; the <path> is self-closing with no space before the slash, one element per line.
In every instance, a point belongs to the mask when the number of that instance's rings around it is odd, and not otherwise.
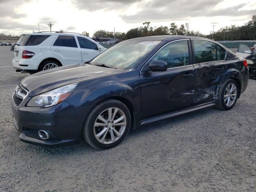
<path fill-rule="evenodd" d="M 136 2 L 143 0 L 72 0 L 76 7 L 80 10 L 96 11 L 96 10 L 119 10 Z"/>

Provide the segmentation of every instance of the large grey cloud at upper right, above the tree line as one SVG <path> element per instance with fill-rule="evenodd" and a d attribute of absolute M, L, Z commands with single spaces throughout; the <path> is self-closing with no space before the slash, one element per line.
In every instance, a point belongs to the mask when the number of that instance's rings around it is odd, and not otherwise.
<path fill-rule="evenodd" d="M 193 17 L 213 17 L 213 16 L 244 16 L 252 15 L 253 10 L 239 10 L 246 6 L 245 3 L 222 9 L 214 7 L 222 0 L 152 0 L 146 4 L 139 4 L 141 10 L 134 15 L 121 15 L 124 22 L 138 23 L 144 21 L 178 21 L 188 20 Z M 144 8 L 142 8 L 144 6 Z"/>

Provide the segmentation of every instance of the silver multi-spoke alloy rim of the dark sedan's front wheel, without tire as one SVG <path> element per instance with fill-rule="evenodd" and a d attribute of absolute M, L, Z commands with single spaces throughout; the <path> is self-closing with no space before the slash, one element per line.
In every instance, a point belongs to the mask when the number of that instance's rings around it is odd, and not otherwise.
<path fill-rule="evenodd" d="M 126 129 L 126 116 L 116 107 L 102 111 L 94 122 L 94 136 L 103 144 L 116 142 Z"/>

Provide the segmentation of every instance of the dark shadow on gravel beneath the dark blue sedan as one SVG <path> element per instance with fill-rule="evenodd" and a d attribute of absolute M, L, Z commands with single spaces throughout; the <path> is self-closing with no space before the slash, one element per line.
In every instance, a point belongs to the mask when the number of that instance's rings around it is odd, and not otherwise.
<path fill-rule="evenodd" d="M 216 111 L 219 111 L 216 108 L 208 108 L 208 109 L 202 109 L 195 112 L 191 112 L 188 114 L 182 114 L 177 117 L 169 118 L 166 120 L 162 120 L 159 122 L 154 122 L 151 124 L 147 124 L 144 126 L 141 126 L 140 128 L 137 128 L 136 130 L 130 130 L 126 138 L 124 139 L 124 142 L 129 142 L 131 138 L 136 137 L 139 139 L 140 137 L 143 137 L 145 134 L 151 134 L 156 129 L 162 129 L 164 130 L 167 126 L 172 127 L 172 124 L 180 124 L 180 126 L 184 126 L 186 121 L 191 119 L 198 119 L 199 117 L 202 118 L 203 116 L 210 116 L 210 113 L 215 113 Z M 127 146 L 122 146 L 124 143 L 122 142 L 115 148 L 123 148 Z M 29 151 L 31 153 L 36 154 L 44 154 L 44 156 L 86 156 L 90 155 L 91 153 L 109 153 L 109 150 L 96 150 L 92 148 L 89 144 L 87 144 L 84 140 L 81 141 L 80 144 L 72 145 L 72 146 L 66 146 L 66 147 L 59 147 L 59 148 L 46 148 L 46 147 L 40 147 L 40 146 L 34 146 L 31 144 L 25 144 L 26 146 L 24 151 Z M 110 149 L 111 150 L 111 149 Z"/>

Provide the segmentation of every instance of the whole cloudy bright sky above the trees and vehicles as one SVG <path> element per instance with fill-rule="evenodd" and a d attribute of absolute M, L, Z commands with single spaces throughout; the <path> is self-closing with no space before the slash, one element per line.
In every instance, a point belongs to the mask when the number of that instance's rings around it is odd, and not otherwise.
<path fill-rule="evenodd" d="M 150 21 L 151 26 L 189 23 L 190 30 L 210 34 L 229 25 L 243 25 L 256 14 L 256 0 L 0 0 L 0 32 L 20 35 L 50 30 L 127 32 Z"/>

